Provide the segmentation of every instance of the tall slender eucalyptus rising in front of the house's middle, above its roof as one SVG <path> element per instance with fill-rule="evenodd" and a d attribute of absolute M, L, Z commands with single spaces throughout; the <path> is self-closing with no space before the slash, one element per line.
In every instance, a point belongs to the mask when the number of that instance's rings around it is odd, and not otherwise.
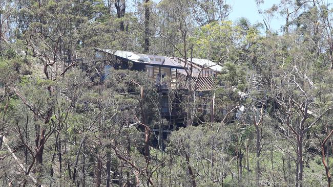
<path fill-rule="evenodd" d="M 195 29 L 195 22 L 190 16 L 190 7 L 187 1 L 162 1 L 158 5 L 161 19 L 159 35 L 173 46 L 174 54 L 184 59 L 184 70 L 188 76 L 188 97 L 186 98 L 186 126 L 193 125 L 195 81 L 193 80 L 193 41 L 190 40 Z"/>

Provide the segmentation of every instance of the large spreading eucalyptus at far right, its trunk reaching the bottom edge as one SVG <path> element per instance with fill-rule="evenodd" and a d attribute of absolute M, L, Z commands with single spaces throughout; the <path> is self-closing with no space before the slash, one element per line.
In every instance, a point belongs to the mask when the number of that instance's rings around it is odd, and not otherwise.
<path fill-rule="evenodd" d="M 270 54 L 261 59 L 270 64 L 266 70 L 270 73 L 264 75 L 264 79 L 271 89 L 270 97 L 279 106 L 281 123 L 290 129 L 296 138 L 295 183 L 296 186 L 303 186 L 305 139 L 309 130 L 332 108 L 321 107 L 318 103 L 318 72 L 310 68 L 316 67 L 316 64 L 313 63 L 313 56 L 306 44 L 298 40 L 297 35 L 278 36 L 274 37 L 274 40 L 275 42 L 268 42 L 266 45 L 271 51 Z"/>

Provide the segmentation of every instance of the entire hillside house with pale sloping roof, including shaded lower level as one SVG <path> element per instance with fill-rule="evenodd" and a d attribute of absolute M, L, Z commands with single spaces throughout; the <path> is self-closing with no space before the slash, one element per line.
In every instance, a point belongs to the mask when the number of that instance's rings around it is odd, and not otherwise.
<path fill-rule="evenodd" d="M 95 61 L 106 62 L 103 68 L 103 79 L 110 74 L 110 68 L 131 69 L 147 72 L 154 80 L 161 95 L 160 112 L 164 118 L 173 121 L 173 124 L 181 126 L 183 116 L 181 114 L 181 100 L 189 89 L 189 75 L 186 70 L 192 66 L 191 78 L 196 83 L 195 98 L 197 111 L 203 114 L 209 113 L 214 108 L 212 90 L 215 89 L 216 75 L 222 71 L 222 66 L 210 60 L 179 57 L 168 57 L 118 51 L 112 49 L 95 49 Z M 107 63 L 112 62 L 112 63 Z M 171 98 L 170 90 L 179 90 L 179 94 Z M 171 104 L 172 103 L 172 104 Z M 213 113 L 213 112 L 211 112 Z"/>

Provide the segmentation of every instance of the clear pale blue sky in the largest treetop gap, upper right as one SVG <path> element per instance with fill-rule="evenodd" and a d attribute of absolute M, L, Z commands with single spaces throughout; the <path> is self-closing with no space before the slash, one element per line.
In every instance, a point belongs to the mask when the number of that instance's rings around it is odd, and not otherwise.
<path fill-rule="evenodd" d="M 332 0 L 333 1 L 333 0 Z M 274 4 L 278 5 L 279 0 L 266 0 L 264 4 L 260 4 L 260 9 L 266 10 Z M 258 13 L 258 7 L 255 0 L 226 0 L 226 3 L 232 7 L 232 12 L 229 14 L 229 19 L 236 22 L 240 17 L 245 17 L 251 24 L 256 22 L 263 23 L 263 16 Z M 265 17 L 266 20 L 268 17 Z M 273 17 L 268 21 L 271 31 L 280 31 L 284 20 L 280 17 Z"/>

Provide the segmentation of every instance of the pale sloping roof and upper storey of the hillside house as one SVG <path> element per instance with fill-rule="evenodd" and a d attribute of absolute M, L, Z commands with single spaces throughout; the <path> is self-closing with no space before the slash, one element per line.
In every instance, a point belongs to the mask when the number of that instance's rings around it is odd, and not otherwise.
<path fill-rule="evenodd" d="M 197 91 L 206 91 L 214 89 L 213 77 L 222 71 L 222 66 L 210 60 L 192 58 L 185 60 L 179 57 L 167 57 L 158 55 L 146 55 L 128 51 L 115 51 L 111 49 L 95 49 L 95 61 L 117 61 L 112 67 L 106 65 L 105 77 L 110 72 L 108 69 L 126 69 L 130 68 L 137 71 L 145 71 L 148 76 L 156 82 L 156 86 L 161 89 L 188 89 L 186 85 L 185 69 L 193 66 L 192 78 L 197 80 Z M 129 62 L 132 63 L 130 67 Z M 208 67 L 208 68 L 207 68 Z M 202 69 L 203 68 L 203 69 Z M 168 78 L 168 79 L 166 79 Z"/>

